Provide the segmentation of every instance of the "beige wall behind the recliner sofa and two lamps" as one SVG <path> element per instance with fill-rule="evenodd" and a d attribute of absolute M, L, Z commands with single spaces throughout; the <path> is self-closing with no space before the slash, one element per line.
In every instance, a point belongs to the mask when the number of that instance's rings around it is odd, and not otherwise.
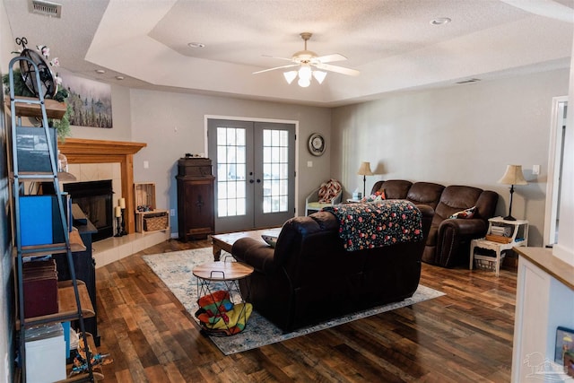
<path fill-rule="evenodd" d="M 334 109 L 332 173 L 347 191 L 362 187 L 361 161 L 381 173 L 368 178 L 367 190 L 392 178 L 491 189 L 502 215 L 509 187 L 497 181 L 507 164 L 520 164 L 529 183 L 515 187 L 512 215 L 530 221 L 529 244 L 542 246 L 552 97 L 568 94 L 568 82 L 569 71 L 560 70 Z"/>

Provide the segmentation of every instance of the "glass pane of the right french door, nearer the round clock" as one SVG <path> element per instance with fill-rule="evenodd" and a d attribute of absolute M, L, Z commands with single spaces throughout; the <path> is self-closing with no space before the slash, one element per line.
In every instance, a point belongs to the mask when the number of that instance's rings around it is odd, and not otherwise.
<path fill-rule="evenodd" d="M 288 132 L 263 130 L 263 213 L 287 211 Z"/>

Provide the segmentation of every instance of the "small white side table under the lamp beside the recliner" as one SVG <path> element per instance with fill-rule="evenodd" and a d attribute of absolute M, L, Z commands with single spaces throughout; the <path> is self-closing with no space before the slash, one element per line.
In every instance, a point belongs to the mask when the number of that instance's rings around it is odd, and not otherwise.
<path fill-rule="evenodd" d="M 488 262 L 493 265 L 494 272 L 496 276 L 500 274 L 500 264 L 505 255 L 502 253 L 505 250 L 511 248 L 518 248 L 522 246 L 528 246 L 528 221 L 517 220 L 517 221 L 506 221 L 502 217 L 494 217 L 489 221 L 487 234 L 491 234 L 492 226 L 508 226 L 512 229 L 511 236 L 509 237 L 509 243 L 500 243 L 493 240 L 488 240 L 486 238 L 473 239 L 470 242 L 470 269 L 473 269 L 474 259 L 479 259 L 483 262 Z M 480 254 L 474 255 L 475 248 L 483 248 L 487 250 L 493 250 L 496 257 L 483 256 Z"/>

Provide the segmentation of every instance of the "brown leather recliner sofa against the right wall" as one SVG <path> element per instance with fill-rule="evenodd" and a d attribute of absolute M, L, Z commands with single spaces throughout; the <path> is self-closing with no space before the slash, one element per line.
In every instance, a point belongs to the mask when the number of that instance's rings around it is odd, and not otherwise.
<path fill-rule="evenodd" d="M 431 231 L 422 253 L 422 261 L 431 265 L 452 267 L 468 264 L 471 239 L 484 237 L 488 219 L 494 215 L 499 195 L 478 187 L 411 182 L 404 179 L 378 181 L 371 194 L 385 190 L 387 199 L 407 199 L 415 205 L 429 205 L 435 213 Z M 476 206 L 472 218 L 448 219 L 453 213 Z"/>

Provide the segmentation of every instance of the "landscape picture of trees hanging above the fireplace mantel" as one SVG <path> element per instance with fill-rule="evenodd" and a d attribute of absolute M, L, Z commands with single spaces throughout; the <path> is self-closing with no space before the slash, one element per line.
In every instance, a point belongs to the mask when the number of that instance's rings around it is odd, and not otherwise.
<path fill-rule="evenodd" d="M 72 108 L 70 125 L 111 128 L 111 86 L 73 74 L 59 74 L 70 92 L 66 102 Z"/>

